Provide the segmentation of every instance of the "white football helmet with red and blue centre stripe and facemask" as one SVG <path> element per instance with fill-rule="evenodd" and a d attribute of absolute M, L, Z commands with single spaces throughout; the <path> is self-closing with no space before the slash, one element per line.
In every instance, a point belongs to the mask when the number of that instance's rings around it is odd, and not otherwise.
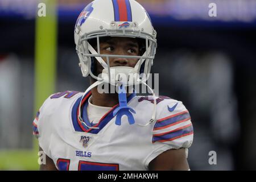
<path fill-rule="evenodd" d="M 145 51 L 140 56 L 103 55 L 100 53 L 100 38 L 119 36 L 144 39 Z M 97 40 L 96 51 L 89 43 Z M 156 52 L 156 31 L 152 27 L 146 10 L 134 0 L 95 0 L 82 10 L 75 26 L 76 50 L 80 60 L 82 76 L 92 76 L 98 81 L 124 86 L 146 82 Z M 105 57 L 106 62 L 102 59 Z M 109 57 L 138 59 L 134 68 L 110 67 Z M 102 74 L 93 72 L 94 61 L 104 68 Z M 142 74 L 143 73 L 143 74 Z M 124 74 L 126 79 L 120 78 Z M 121 76 L 122 77 L 122 76 Z"/>

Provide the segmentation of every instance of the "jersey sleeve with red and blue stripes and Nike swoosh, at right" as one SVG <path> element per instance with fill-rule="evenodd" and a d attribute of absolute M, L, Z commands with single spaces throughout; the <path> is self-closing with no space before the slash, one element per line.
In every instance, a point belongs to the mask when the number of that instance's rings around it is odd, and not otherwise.
<path fill-rule="evenodd" d="M 164 143 L 170 148 L 188 148 L 193 141 L 191 115 L 183 102 L 162 97 L 157 105 L 152 143 Z M 167 147 L 167 148 L 168 148 Z"/>

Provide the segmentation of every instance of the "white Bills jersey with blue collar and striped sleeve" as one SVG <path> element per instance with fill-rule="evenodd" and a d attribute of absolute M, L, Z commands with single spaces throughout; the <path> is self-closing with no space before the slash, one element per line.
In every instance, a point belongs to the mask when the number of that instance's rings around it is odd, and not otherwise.
<path fill-rule="evenodd" d="M 91 92 L 82 100 L 82 118 L 77 119 L 83 93 L 66 91 L 48 97 L 33 122 L 39 146 L 59 170 L 148 170 L 148 164 L 172 148 L 188 148 L 193 140 L 193 126 L 182 102 L 168 97 L 157 98 L 157 121 L 147 126 L 154 109 L 152 97 L 127 98 L 136 112 L 130 125 L 122 117 L 115 125 L 115 105 L 93 125 L 88 120 L 87 106 Z"/>

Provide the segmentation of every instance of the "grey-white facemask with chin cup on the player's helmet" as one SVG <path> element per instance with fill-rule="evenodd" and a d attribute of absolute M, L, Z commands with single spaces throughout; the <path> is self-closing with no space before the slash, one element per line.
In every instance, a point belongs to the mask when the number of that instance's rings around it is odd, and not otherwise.
<path fill-rule="evenodd" d="M 141 54 L 139 56 L 104 55 L 100 52 L 100 39 L 106 37 L 127 37 L 141 39 L 144 42 L 144 48 L 139 47 L 141 49 Z M 96 42 L 97 46 L 92 44 L 93 41 Z M 93 47 L 96 47 L 96 49 Z M 150 69 L 151 65 L 153 64 L 155 49 L 156 40 L 152 35 L 141 31 L 131 31 L 125 29 L 101 30 L 81 35 L 76 46 L 77 54 L 79 55 L 80 59 L 82 75 L 84 77 L 90 75 L 92 78 L 98 81 L 103 81 L 114 86 L 121 83 L 124 86 L 130 86 L 146 82 L 150 76 Z M 102 59 L 102 57 L 106 58 L 106 62 Z M 138 62 L 134 68 L 122 66 L 110 67 L 110 57 L 138 59 Z M 98 63 L 100 63 L 100 65 L 102 65 L 104 68 L 100 75 L 97 75 L 96 72 L 94 72 L 95 65 L 92 63 L 95 60 L 97 60 Z"/>

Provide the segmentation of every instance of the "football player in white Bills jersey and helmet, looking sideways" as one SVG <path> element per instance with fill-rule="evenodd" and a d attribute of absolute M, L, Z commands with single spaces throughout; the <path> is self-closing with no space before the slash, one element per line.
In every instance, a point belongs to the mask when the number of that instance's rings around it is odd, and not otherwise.
<path fill-rule="evenodd" d="M 134 0 L 93 1 L 77 19 L 75 43 L 91 85 L 84 93 L 52 94 L 40 107 L 33 122 L 47 157 L 40 169 L 188 170 L 188 110 L 149 86 L 152 97 L 133 90 L 147 86 L 156 51 L 146 10 Z"/>

